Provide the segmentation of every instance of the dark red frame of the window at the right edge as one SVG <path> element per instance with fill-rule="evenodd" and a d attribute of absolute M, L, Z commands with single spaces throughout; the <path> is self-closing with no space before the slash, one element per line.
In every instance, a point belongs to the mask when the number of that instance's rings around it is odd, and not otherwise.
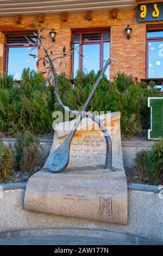
<path fill-rule="evenodd" d="M 148 68 L 149 68 L 149 42 L 153 42 L 153 41 L 163 41 L 163 36 L 161 37 L 152 37 L 152 38 L 149 38 L 147 37 L 147 33 L 148 32 L 158 32 L 158 31 L 162 31 L 163 32 L 163 27 L 162 26 L 159 26 L 159 27 L 148 27 L 147 28 L 147 31 L 146 31 L 146 78 L 149 78 L 148 77 Z M 163 75 L 162 77 L 163 78 Z M 149 79 L 152 79 L 152 78 L 149 78 Z"/>

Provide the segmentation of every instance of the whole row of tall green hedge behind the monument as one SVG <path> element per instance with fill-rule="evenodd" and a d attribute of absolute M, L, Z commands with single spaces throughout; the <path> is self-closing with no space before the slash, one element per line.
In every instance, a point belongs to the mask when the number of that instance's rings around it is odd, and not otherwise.
<path fill-rule="evenodd" d="M 100 72 L 100 71 L 99 71 Z M 99 75 L 91 71 L 79 72 L 74 79 L 62 73 L 58 77 L 59 93 L 66 106 L 81 110 Z M 89 111 L 121 111 L 121 130 L 126 136 L 143 135 L 149 127 L 147 98 L 158 96 L 158 91 L 148 89 L 146 83 L 135 84 L 133 77 L 118 73 L 110 83 L 104 76 L 93 96 Z M 60 109 L 55 104 L 52 86 L 45 86 L 42 74 L 25 69 L 22 82 L 13 77 L 0 79 L 0 132 L 14 135 L 17 131 L 32 131 L 36 134 L 52 132 L 52 113 Z"/>

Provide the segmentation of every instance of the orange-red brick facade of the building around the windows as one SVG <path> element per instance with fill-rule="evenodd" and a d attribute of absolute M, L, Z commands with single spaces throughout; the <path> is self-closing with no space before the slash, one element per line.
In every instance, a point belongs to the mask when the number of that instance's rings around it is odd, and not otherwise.
<path fill-rule="evenodd" d="M 161 2 L 156 0 L 151 1 L 136 1 L 136 3 L 146 2 Z M 45 45 L 52 44 L 51 38 L 49 38 L 49 31 L 52 28 L 55 29 L 56 42 L 53 47 L 54 54 L 61 54 L 62 47 L 65 45 L 66 50 L 70 48 L 70 42 L 72 40 L 73 29 L 86 29 L 86 28 L 108 28 L 110 29 L 110 57 L 115 60 L 114 65 L 110 68 L 110 78 L 112 79 L 117 71 L 123 71 L 126 74 L 132 74 L 134 77 L 145 78 L 146 77 L 146 30 L 147 26 L 162 24 L 163 22 L 137 22 L 137 9 L 135 10 L 118 10 L 117 19 L 112 18 L 111 11 L 97 11 L 93 12 L 92 21 L 87 21 L 86 13 L 70 13 L 68 14 L 68 21 L 62 21 L 61 14 L 57 15 L 45 15 L 45 23 L 39 23 L 37 15 L 34 16 L 22 16 L 21 25 L 17 25 L 14 21 L 14 17 L 0 17 L 0 73 L 3 73 L 3 52 L 4 52 L 4 34 L 8 32 L 18 31 L 31 31 L 32 22 L 38 25 L 40 28 L 46 27 Z M 130 25 L 133 29 L 131 39 L 127 40 L 124 29 Z M 2 33 L 1 33 L 2 32 Z M 3 34 L 4 33 L 4 34 Z M 39 51 L 39 55 L 42 56 L 42 49 Z M 43 66 L 39 65 L 38 70 L 42 71 Z M 66 71 L 71 76 L 71 58 L 68 59 L 68 65 L 66 69 L 64 66 L 59 68 L 59 71 Z"/>

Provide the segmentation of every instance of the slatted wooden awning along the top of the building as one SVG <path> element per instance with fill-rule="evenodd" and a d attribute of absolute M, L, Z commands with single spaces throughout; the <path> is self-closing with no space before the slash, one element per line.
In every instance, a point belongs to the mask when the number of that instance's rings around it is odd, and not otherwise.
<path fill-rule="evenodd" d="M 0 16 L 134 8 L 135 0 L 0 0 Z"/>

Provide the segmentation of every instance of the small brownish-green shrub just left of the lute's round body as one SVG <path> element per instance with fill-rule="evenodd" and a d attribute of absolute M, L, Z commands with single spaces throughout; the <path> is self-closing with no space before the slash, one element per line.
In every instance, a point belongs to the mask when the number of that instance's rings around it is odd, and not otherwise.
<path fill-rule="evenodd" d="M 33 173 L 39 168 L 41 159 L 41 146 L 39 139 L 29 131 L 17 133 L 16 169 L 27 170 Z"/>

